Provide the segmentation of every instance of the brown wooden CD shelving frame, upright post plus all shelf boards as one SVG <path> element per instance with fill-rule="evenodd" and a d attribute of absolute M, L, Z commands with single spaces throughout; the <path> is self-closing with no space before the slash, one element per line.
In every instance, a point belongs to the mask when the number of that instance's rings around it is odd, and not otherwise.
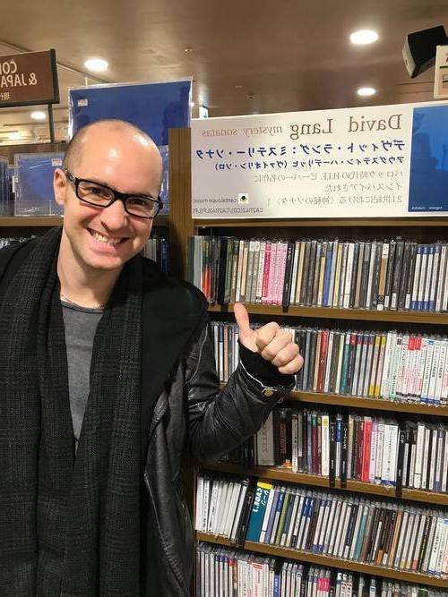
<path fill-rule="evenodd" d="M 172 131 L 170 134 L 170 190 L 176 194 L 177 203 L 173 202 L 175 209 L 171 212 L 172 224 L 176 225 L 176 231 L 170 232 L 170 243 L 172 253 L 179 259 L 177 260 L 177 273 L 185 277 L 185 243 L 189 235 L 209 234 L 209 235 L 236 235 L 240 238 L 266 238 L 279 237 L 285 235 L 289 240 L 302 236 L 319 238 L 327 234 L 330 236 L 339 236 L 349 239 L 355 238 L 383 238 L 401 235 L 402 238 L 411 237 L 418 242 L 426 242 L 426 239 L 448 240 L 448 218 L 439 217 L 408 217 L 408 218 L 335 218 L 335 219 L 220 219 L 205 220 L 191 218 L 191 139 L 190 133 L 185 130 Z M 173 195 L 172 195 L 173 197 Z M 174 224 L 176 223 L 176 224 Z M 330 229 L 330 230 L 328 230 Z M 325 230 L 328 230 L 325 233 Z M 176 257 L 176 258 L 177 258 Z M 296 307 L 290 306 L 283 310 L 279 306 L 247 304 L 247 311 L 256 316 L 268 316 L 272 318 L 297 317 L 309 318 L 315 320 L 327 320 L 325 325 L 330 325 L 328 320 L 352 320 L 352 321 L 372 321 L 389 325 L 390 328 L 402 324 L 418 325 L 426 332 L 441 334 L 442 330 L 448 326 L 448 313 L 432 313 L 418 311 L 367 311 L 353 309 L 332 309 L 316 307 Z M 210 307 L 211 317 L 216 313 L 231 313 L 232 305 L 212 305 Z M 335 325 L 337 325 L 335 323 Z M 448 333 L 448 332 L 445 332 Z M 373 411 L 384 411 L 387 413 L 401 413 L 414 415 L 435 415 L 440 417 L 448 416 L 448 406 L 446 405 L 422 405 L 409 404 L 403 402 L 389 402 L 386 400 L 374 400 L 368 398 L 347 397 L 340 395 L 317 394 L 314 392 L 291 392 L 289 399 L 298 402 L 321 405 L 340 405 L 351 408 L 366 409 Z M 312 487 L 326 488 L 329 486 L 328 479 L 312 474 L 292 473 L 274 467 L 256 467 L 247 470 L 237 465 L 217 465 L 210 463 L 195 463 L 194 473 L 203 466 L 211 471 L 227 471 L 228 473 L 255 474 L 264 479 L 285 481 L 292 483 L 302 483 Z M 195 480 L 193 479 L 193 483 Z M 336 489 L 340 488 L 340 482 L 336 482 Z M 436 494 L 434 492 L 421 490 L 403 489 L 401 496 L 395 495 L 393 488 L 381 485 L 373 485 L 364 482 L 347 482 L 347 488 L 344 491 L 362 492 L 382 498 L 409 499 L 415 502 L 442 505 L 448 507 L 448 496 L 445 494 Z M 193 497 L 193 493 L 190 494 Z M 225 545 L 235 548 L 227 540 L 215 537 L 207 533 L 195 533 L 197 541 L 211 542 L 219 545 Z M 384 578 L 401 580 L 409 583 L 426 584 L 428 586 L 442 587 L 448 594 L 448 578 L 439 578 L 435 576 L 426 576 L 418 573 L 403 572 L 391 568 L 378 567 L 366 563 L 352 562 L 346 559 L 336 559 L 320 554 L 314 554 L 306 551 L 289 550 L 263 543 L 245 542 L 244 550 L 253 550 L 258 553 L 268 554 L 270 556 L 302 560 L 317 565 L 338 567 L 341 570 L 361 572 L 367 575 L 383 576 Z"/>

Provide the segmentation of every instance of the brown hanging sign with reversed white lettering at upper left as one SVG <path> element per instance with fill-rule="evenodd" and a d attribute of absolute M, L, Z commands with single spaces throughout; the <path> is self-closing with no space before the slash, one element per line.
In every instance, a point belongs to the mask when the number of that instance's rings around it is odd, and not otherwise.
<path fill-rule="evenodd" d="M 58 102 L 55 50 L 0 55 L 0 107 Z"/>

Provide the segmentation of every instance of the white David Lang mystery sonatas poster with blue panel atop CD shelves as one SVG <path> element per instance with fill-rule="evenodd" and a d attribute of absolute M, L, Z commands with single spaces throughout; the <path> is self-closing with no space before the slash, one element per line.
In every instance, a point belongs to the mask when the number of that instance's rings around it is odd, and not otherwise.
<path fill-rule="evenodd" d="M 448 103 L 192 123 L 194 218 L 448 215 Z"/>

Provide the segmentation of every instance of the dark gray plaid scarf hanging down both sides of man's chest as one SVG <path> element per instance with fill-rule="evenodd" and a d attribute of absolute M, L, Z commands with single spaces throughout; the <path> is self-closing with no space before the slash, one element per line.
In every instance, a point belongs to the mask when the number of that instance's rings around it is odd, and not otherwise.
<path fill-rule="evenodd" d="M 142 270 L 130 260 L 99 322 L 76 460 L 60 231 L 37 242 L 0 308 L 0 593 L 140 594 Z"/>

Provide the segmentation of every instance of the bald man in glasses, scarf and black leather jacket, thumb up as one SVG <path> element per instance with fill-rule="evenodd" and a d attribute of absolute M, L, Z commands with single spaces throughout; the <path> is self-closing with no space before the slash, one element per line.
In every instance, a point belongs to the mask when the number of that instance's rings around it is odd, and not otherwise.
<path fill-rule="evenodd" d="M 256 432 L 302 360 L 236 305 L 241 364 L 222 391 L 207 303 L 140 255 L 159 151 L 122 121 L 78 132 L 54 178 L 62 231 L 0 252 L 0 593 L 186 596 L 181 483 Z"/>

